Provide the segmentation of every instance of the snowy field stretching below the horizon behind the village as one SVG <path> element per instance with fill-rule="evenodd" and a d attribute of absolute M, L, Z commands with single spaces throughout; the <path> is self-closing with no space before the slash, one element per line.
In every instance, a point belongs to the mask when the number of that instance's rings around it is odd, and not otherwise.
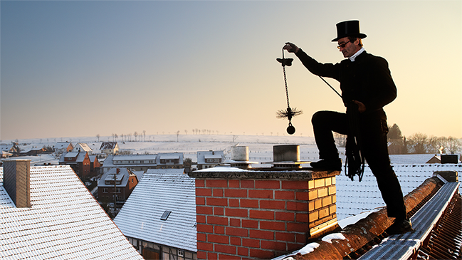
<path fill-rule="evenodd" d="M 2 145 L 11 144 L 15 140 L 1 140 Z M 23 139 L 19 141 L 21 150 L 30 150 L 31 147 L 53 147 L 56 142 L 85 142 L 93 149 L 93 154 L 100 153 L 103 142 L 117 141 L 121 151 L 130 151 L 132 154 L 157 154 L 160 152 L 183 152 L 184 158 L 190 158 L 196 162 L 198 151 L 224 151 L 226 160 L 231 159 L 231 147 L 241 145 L 248 146 L 251 161 L 272 162 L 274 145 L 300 145 L 300 160 L 318 160 L 317 147 L 314 137 L 296 135 L 146 135 L 139 136 L 137 141 L 122 142 L 122 138 L 113 139 L 112 136 L 97 137 L 60 137 L 42 139 Z M 345 148 L 339 147 L 340 157 L 345 161 Z M 433 157 L 426 155 L 391 155 L 393 164 L 420 164 Z M 58 159 L 53 155 L 40 155 L 21 157 L 30 159 L 33 165 L 43 163 L 58 164 Z"/>

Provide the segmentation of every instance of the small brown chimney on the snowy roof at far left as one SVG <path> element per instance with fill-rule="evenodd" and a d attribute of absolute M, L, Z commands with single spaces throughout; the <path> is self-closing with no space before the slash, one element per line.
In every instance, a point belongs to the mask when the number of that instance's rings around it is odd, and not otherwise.
<path fill-rule="evenodd" d="M 31 160 L 4 160 L 3 185 L 16 207 L 31 207 Z"/>

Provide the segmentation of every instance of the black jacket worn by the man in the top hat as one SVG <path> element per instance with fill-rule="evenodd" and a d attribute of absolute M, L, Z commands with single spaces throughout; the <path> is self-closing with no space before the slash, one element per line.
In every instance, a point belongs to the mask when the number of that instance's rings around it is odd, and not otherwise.
<path fill-rule="evenodd" d="M 387 60 L 382 57 L 364 51 L 355 58 L 355 62 L 347 58 L 332 64 L 318 63 L 301 49 L 296 55 L 311 73 L 338 80 L 345 106 L 352 100 L 358 100 L 366 106 L 364 115 L 384 117 L 383 107 L 397 97 L 397 87 Z"/>

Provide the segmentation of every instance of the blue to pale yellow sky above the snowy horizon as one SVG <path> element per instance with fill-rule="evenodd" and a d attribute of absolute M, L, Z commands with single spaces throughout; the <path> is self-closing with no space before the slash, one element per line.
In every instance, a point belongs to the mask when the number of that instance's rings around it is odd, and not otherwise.
<path fill-rule="evenodd" d="M 351 19 L 366 51 L 389 62 L 398 88 L 389 125 L 462 137 L 461 1 L 0 1 L 0 10 L 3 140 L 282 134 L 283 44 L 340 62 L 335 24 Z M 286 73 L 290 106 L 303 110 L 295 135 L 313 135 L 317 110 L 345 111 L 298 60 Z"/>

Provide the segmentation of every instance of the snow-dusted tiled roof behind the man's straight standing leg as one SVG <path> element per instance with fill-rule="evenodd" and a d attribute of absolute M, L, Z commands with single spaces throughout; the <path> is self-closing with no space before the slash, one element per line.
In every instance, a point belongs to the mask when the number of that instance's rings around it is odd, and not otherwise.
<path fill-rule="evenodd" d="M 403 195 L 419 187 L 426 179 L 431 178 L 436 171 L 462 172 L 462 164 L 392 164 Z M 460 180 L 459 180 L 460 181 Z M 382 194 L 377 187 L 377 180 L 369 167 L 365 167 L 362 182 L 357 177 L 352 182 L 345 172 L 336 178 L 337 188 L 337 219 L 344 219 L 362 212 L 384 207 Z M 459 192 L 461 192 L 459 188 Z"/>

